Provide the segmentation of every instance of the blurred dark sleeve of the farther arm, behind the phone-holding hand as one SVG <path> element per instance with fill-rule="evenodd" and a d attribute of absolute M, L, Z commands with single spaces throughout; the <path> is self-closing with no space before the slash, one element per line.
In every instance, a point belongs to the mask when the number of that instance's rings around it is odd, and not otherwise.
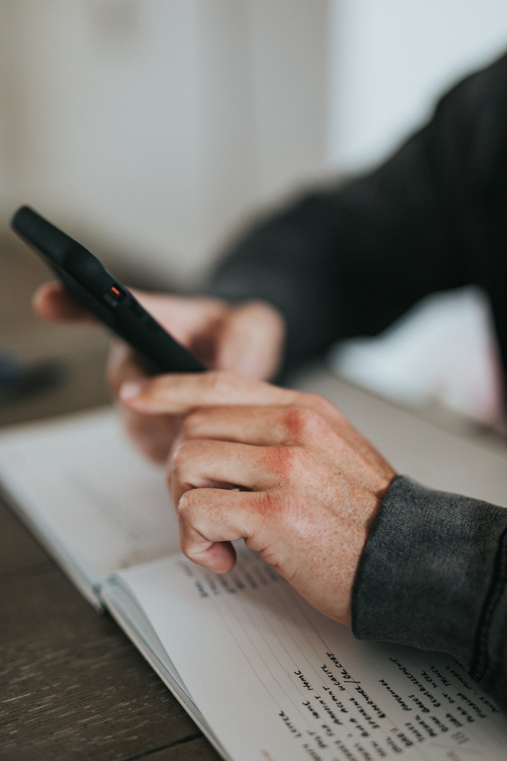
<path fill-rule="evenodd" d="M 337 339 L 378 333 L 429 292 L 475 282 L 481 244 L 467 231 L 471 209 L 482 209 L 502 174 L 506 78 L 507 56 L 445 95 L 429 124 L 372 174 L 258 222 L 207 292 L 275 304 L 291 365 Z"/>

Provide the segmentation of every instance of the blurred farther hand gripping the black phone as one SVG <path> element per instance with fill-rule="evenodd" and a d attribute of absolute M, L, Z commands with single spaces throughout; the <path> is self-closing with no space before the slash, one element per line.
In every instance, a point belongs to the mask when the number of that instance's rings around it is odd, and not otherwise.
<path fill-rule="evenodd" d="M 284 344 L 284 320 L 263 301 L 230 305 L 216 298 L 184 298 L 134 291 L 135 298 L 179 342 L 189 347 L 204 365 L 234 370 L 246 377 L 270 378 L 276 374 Z M 93 318 L 58 283 L 36 291 L 33 305 L 46 320 Z M 144 369 L 123 342 L 115 342 L 106 371 L 109 387 L 117 396 L 126 380 L 142 379 Z M 179 430 L 179 417 L 144 416 L 125 411 L 128 435 L 151 460 L 163 462 Z"/>

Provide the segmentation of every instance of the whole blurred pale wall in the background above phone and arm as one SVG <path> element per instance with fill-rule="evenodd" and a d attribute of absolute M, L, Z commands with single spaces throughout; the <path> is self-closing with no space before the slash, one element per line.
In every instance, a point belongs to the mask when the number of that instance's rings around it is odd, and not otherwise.
<path fill-rule="evenodd" d="M 507 46 L 505 0 L 2 0 L 0 221 L 192 285 L 239 221 L 382 157 Z"/>

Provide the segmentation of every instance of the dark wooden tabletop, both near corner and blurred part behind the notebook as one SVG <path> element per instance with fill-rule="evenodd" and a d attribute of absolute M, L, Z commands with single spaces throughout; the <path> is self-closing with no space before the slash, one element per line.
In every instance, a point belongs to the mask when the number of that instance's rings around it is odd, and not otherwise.
<path fill-rule="evenodd" d="M 0 247 L 0 351 L 56 358 L 54 387 L 0 408 L 0 425 L 107 399 L 99 330 L 46 326 L 30 292 L 46 278 L 32 255 Z M 212 761 L 219 756 L 135 647 L 78 593 L 0 501 L 0 759 Z"/>

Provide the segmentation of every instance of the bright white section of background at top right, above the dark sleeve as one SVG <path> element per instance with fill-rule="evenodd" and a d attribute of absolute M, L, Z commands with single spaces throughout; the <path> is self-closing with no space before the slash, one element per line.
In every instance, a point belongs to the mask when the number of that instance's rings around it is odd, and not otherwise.
<path fill-rule="evenodd" d="M 381 160 L 456 79 L 507 49 L 505 0 L 331 0 L 328 161 Z"/>

